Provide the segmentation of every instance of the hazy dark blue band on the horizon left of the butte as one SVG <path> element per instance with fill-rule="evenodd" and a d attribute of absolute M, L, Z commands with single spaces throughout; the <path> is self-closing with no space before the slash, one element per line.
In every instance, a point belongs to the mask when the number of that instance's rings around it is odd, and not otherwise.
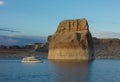
<path fill-rule="evenodd" d="M 31 43 L 45 43 L 47 42 L 47 37 L 42 36 L 24 36 L 24 35 L 16 35 L 16 36 L 7 36 L 0 35 L 0 45 L 26 45 Z"/>

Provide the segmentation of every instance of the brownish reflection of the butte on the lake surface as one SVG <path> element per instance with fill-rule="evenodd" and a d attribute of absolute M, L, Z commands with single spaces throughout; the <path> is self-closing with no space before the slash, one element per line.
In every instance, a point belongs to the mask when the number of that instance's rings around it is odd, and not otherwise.
<path fill-rule="evenodd" d="M 88 61 L 50 60 L 50 82 L 88 82 Z"/>

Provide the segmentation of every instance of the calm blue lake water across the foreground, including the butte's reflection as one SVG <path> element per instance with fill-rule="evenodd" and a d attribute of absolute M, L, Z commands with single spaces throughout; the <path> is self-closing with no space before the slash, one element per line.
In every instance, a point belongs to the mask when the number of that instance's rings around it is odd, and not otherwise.
<path fill-rule="evenodd" d="M 120 82 L 120 60 L 22 63 L 0 59 L 0 82 Z"/>

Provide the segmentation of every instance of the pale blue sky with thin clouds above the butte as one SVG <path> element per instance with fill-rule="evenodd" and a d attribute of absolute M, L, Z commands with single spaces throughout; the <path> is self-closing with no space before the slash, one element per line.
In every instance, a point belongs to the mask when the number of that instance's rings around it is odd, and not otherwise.
<path fill-rule="evenodd" d="M 0 0 L 0 35 L 48 36 L 60 21 L 79 18 L 93 35 L 120 34 L 120 0 Z"/>

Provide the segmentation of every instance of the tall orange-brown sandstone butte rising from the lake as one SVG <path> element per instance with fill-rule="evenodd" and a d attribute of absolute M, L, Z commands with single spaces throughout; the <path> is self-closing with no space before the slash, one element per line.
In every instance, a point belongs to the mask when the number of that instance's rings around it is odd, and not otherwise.
<path fill-rule="evenodd" d="M 48 37 L 48 59 L 90 60 L 93 58 L 92 36 L 85 18 L 60 22 Z"/>

